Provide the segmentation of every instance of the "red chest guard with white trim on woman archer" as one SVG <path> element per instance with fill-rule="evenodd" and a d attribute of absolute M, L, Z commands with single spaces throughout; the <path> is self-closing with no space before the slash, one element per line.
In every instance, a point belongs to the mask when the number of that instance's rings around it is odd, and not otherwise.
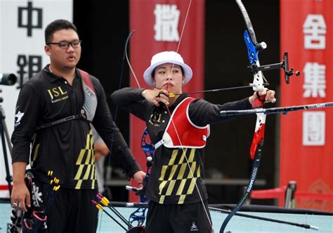
<path fill-rule="evenodd" d="M 206 146 L 209 125 L 197 126 L 188 116 L 188 107 L 193 100 L 195 99 L 188 97 L 178 104 L 166 126 L 162 140 L 155 144 L 155 149 L 162 144 L 168 148 L 204 148 Z"/>

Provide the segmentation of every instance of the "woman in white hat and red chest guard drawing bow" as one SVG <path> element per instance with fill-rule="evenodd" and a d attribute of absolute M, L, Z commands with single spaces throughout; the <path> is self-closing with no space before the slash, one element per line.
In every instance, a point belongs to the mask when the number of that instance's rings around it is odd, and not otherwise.
<path fill-rule="evenodd" d="M 113 103 L 146 122 L 155 145 L 146 196 L 150 199 L 146 232 L 212 232 L 202 155 L 209 124 L 223 122 L 220 111 L 252 108 L 259 96 L 275 103 L 275 92 L 213 104 L 182 94 L 192 69 L 179 53 L 163 51 L 152 56 L 143 74 L 152 89 L 126 87 L 114 92 Z"/>

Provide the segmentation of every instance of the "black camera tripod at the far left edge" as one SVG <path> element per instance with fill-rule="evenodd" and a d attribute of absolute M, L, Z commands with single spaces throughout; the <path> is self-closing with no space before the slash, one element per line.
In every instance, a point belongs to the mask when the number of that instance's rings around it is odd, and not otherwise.
<path fill-rule="evenodd" d="M 4 108 L 2 108 L 2 106 L 0 106 L 1 144 L 2 144 L 2 149 L 4 151 L 4 161 L 5 161 L 5 168 L 6 168 L 6 181 L 8 182 L 9 196 L 11 196 L 11 182 L 12 182 L 13 178 L 11 177 L 11 173 L 9 172 L 6 140 L 7 140 L 8 149 L 9 149 L 10 154 L 12 153 L 12 146 L 11 146 L 11 139 L 9 138 L 5 118 L 6 118 L 6 116 L 5 116 Z"/>

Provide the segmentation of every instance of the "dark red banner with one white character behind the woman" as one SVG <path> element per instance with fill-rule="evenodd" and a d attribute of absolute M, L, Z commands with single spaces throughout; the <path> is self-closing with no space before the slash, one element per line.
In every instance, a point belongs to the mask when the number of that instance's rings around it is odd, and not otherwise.
<path fill-rule="evenodd" d="M 204 0 L 131 0 L 130 30 L 135 30 L 130 42 L 131 65 L 141 87 L 148 88 L 143 73 L 150 59 L 161 51 L 178 51 L 193 71 L 191 82 L 183 92 L 204 88 Z M 190 4 L 190 5 L 189 5 Z M 138 87 L 131 75 L 131 87 Z M 200 98 L 202 95 L 197 94 Z M 145 168 L 141 149 L 145 122 L 131 115 L 130 146 L 136 160 Z M 133 193 L 129 201 L 138 201 Z"/>

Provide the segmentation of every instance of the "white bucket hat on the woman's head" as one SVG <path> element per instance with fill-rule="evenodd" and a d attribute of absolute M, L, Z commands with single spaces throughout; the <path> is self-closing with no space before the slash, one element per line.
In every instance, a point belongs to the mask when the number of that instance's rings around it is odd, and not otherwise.
<path fill-rule="evenodd" d="M 150 87 L 155 87 L 155 85 L 152 82 L 152 72 L 155 70 L 155 68 L 157 68 L 157 66 L 162 65 L 164 63 L 172 63 L 175 65 L 180 65 L 183 68 L 185 75 L 185 80 L 183 85 L 187 84 L 192 78 L 192 69 L 190 68 L 190 66 L 184 63 L 184 60 L 179 53 L 176 53 L 174 51 L 164 51 L 161 53 L 156 53 L 154 56 L 152 56 L 150 67 L 148 67 L 147 70 L 145 70 L 145 73 L 143 73 L 145 83 L 148 84 Z"/>

